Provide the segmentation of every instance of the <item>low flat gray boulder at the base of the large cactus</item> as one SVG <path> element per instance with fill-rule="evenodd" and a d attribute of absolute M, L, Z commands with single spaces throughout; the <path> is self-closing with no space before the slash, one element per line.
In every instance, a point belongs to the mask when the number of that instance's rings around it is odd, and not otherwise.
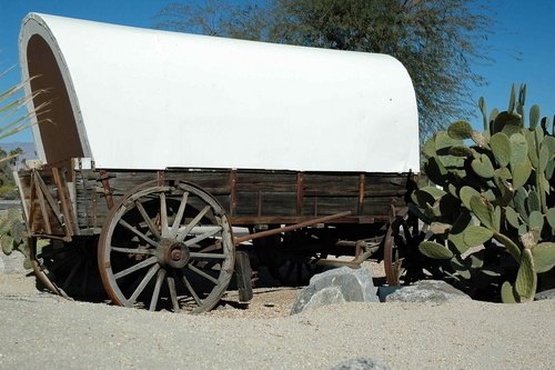
<path fill-rule="evenodd" d="M 435 302 L 443 303 L 471 298 L 442 280 L 422 280 L 413 286 L 395 290 L 387 297 L 386 302 Z"/>

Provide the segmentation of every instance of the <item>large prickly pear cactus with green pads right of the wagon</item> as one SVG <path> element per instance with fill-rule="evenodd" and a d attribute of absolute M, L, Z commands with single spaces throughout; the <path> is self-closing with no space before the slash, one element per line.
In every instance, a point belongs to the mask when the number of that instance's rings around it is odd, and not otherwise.
<path fill-rule="evenodd" d="M 490 116 L 481 99 L 484 132 L 456 121 L 428 139 L 424 169 L 443 190 L 412 194 L 413 213 L 442 226 L 421 253 L 450 260 L 444 276 L 471 293 L 496 291 L 504 302 L 533 300 L 538 274 L 555 276 L 555 132 L 537 106 L 525 126 L 525 92 L 513 87 L 508 109 Z"/>

